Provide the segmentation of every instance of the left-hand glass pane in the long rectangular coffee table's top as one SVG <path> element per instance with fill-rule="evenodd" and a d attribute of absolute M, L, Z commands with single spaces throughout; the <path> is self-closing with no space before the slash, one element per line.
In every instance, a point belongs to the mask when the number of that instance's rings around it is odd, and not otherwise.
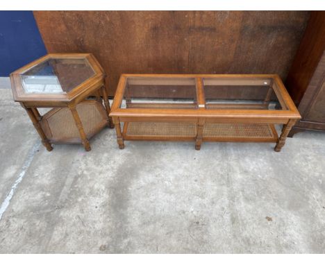
<path fill-rule="evenodd" d="M 127 78 L 121 108 L 197 108 L 195 78 Z"/>

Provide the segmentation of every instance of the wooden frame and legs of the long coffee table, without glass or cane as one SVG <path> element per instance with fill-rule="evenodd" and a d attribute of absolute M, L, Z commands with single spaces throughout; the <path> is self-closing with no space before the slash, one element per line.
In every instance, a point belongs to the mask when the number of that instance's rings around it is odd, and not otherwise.
<path fill-rule="evenodd" d="M 126 80 L 128 78 L 195 78 L 197 91 L 197 108 L 195 109 L 155 109 L 155 108 L 121 108 L 126 89 Z M 206 109 L 206 99 L 203 89 L 203 78 L 271 78 L 274 86 L 274 92 L 281 104 L 282 110 L 210 110 Z M 270 87 L 273 84 L 270 84 Z M 270 101 L 270 91 L 267 93 L 264 103 Z M 202 132 L 206 123 L 267 123 L 267 124 L 283 124 L 281 135 L 271 140 L 265 141 L 259 139 L 231 139 L 231 142 L 276 142 L 275 151 L 281 151 L 285 144 L 285 139 L 288 136 L 294 123 L 301 119 L 301 116 L 294 105 L 290 95 L 288 94 L 281 78 L 276 74 L 254 74 L 254 75 L 215 75 L 215 74 L 122 74 L 119 79 L 119 84 L 115 93 L 110 117 L 115 124 L 117 134 L 117 144 L 119 148 L 124 148 L 124 140 L 152 140 L 157 137 L 127 137 L 125 132 L 122 132 L 120 123 L 136 122 L 136 121 L 153 121 L 153 122 L 190 122 L 194 123 L 197 135 L 195 137 L 160 137 L 160 140 L 180 140 L 180 141 L 195 141 L 195 148 L 199 150 L 201 143 L 209 141 L 203 139 Z M 125 127 L 124 127 L 125 128 Z M 274 128 L 274 126 L 273 126 Z M 275 131 L 275 129 L 272 129 Z M 276 132 L 275 132 L 276 133 Z M 219 142 L 229 141 L 229 138 L 218 139 Z"/>

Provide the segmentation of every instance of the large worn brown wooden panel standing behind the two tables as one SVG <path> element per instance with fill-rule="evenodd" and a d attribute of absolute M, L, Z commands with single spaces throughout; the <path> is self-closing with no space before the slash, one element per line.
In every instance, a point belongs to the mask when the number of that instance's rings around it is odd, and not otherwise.
<path fill-rule="evenodd" d="M 108 74 L 279 74 L 306 11 L 34 11 L 49 53 L 90 52 Z"/>

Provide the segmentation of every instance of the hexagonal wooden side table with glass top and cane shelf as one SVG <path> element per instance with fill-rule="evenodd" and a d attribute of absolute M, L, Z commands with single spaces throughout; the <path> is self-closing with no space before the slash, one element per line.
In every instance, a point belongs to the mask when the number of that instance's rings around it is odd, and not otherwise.
<path fill-rule="evenodd" d="M 10 74 L 15 101 L 26 110 L 48 151 L 83 144 L 113 122 L 101 65 L 90 53 L 51 53 Z M 52 108 L 40 115 L 38 108 Z"/>

